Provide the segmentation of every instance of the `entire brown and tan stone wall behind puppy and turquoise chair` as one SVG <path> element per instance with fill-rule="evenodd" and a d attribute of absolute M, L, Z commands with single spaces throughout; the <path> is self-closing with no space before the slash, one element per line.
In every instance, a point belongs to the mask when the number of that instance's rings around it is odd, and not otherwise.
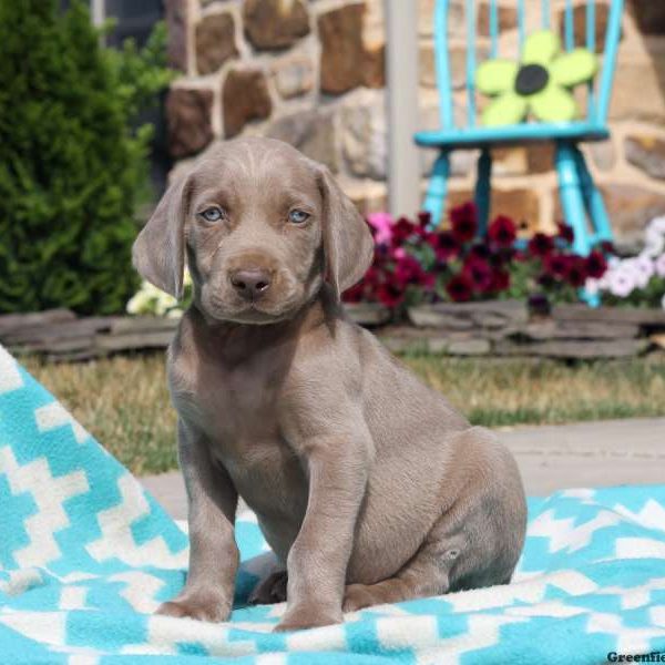
<path fill-rule="evenodd" d="M 418 1 L 418 104 L 423 129 L 438 123 L 433 1 Z M 598 35 L 607 13 L 603 2 Z M 577 0 L 575 12 L 580 35 L 583 3 Z M 463 4 L 453 0 L 450 25 L 460 112 Z M 477 4 L 482 54 L 488 47 L 488 7 L 483 0 Z M 553 2 L 559 23 L 563 4 Z M 268 135 L 326 163 L 362 212 L 386 208 L 381 0 L 166 0 L 166 6 L 170 58 L 183 72 L 166 105 L 170 145 L 181 161 L 178 167 L 186 167 L 216 140 Z M 516 0 L 503 0 L 501 7 L 501 53 L 507 57 L 516 52 L 515 6 Z M 651 217 L 665 213 L 665 2 L 628 0 L 623 28 L 612 140 L 584 150 L 617 234 L 632 241 Z M 422 152 L 423 190 L 432 158 L 431 151 Z M 473 153 L 454 153 L 451 204 L 470 198 L 474 161 Z M 494 161 L 492 212 L 509 214 L 528 229 L 551 229 L 561 215 L 551 146 L 497 150 Z"/>

